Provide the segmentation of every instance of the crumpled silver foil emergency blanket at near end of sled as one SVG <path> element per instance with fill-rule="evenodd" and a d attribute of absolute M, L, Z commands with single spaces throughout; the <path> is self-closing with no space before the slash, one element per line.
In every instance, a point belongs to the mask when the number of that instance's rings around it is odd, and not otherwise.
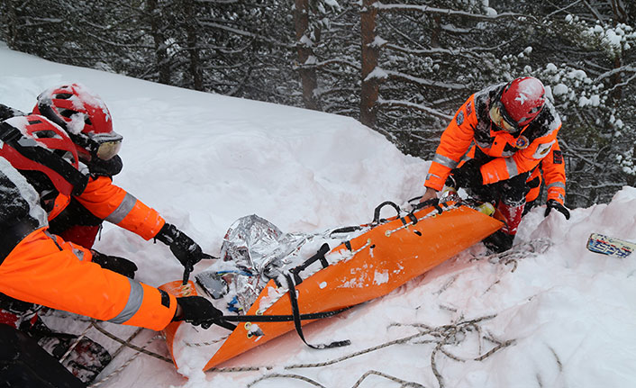
<path fill-rule="evenodd" d="M 294 254 L 310 236 L 283 233 L 273 223 L 256 214 L 232 223 L 223 238 L 221 257 L 237 271 L 223 276 L 228 291 L 236 296 L 237 311 L 247 312 L 269 279 L 297 265 Z"/>

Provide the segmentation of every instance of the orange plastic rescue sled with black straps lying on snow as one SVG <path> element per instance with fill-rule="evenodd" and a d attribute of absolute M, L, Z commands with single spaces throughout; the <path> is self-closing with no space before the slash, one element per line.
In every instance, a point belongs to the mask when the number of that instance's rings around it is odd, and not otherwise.
<path fill-rule="evenodd" d="M 476 244 L 503 226 L 482 212 L 458 203 L 430 206 L 407 217 L 394 218 L 333 248 L 326 257 L 340 256 L 340 261 L 327 266 L 297 284 L 297 302 L 302 314 L 337 311 L 386 295 L 395 288 L 422 275 L 462 250 Z M 195 294 L 194 286 L 185 292 Z M 284 284 L 285 285 L 285 284 Z M 163 286 L 168 292 L 182 294 L 180 282 Z M 289 294 L 271 303 L 273 290 L 270 280 L 247 312 L 247 315 L 288 315 L 292 311 Z M 266 307 L 261 307 L 266 306 Z M 311 320 L 304 320 L 303 324 Z M 168 348 L 172 354 L 178 325 L 173 322 L 165 329 Z M 240 324 L 232 331 L 223 346 L 204 366 L 208 370 L 295 329 L 293 321 L 259 322 L 262 335 L 250 333 L 250 324 Z M 174 356 L 173 356 L 174 359 Z"/>

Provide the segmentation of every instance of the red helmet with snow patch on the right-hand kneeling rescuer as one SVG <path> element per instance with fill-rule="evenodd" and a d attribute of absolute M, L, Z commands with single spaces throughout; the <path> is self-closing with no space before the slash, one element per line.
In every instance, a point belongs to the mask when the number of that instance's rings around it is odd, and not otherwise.
<path fill-rule="evenodd" d="M 535 77 L 516 78 L 504 86 L 499 103 L 504 120 L 518 131 L 541 113 L 545 88 Z"/>

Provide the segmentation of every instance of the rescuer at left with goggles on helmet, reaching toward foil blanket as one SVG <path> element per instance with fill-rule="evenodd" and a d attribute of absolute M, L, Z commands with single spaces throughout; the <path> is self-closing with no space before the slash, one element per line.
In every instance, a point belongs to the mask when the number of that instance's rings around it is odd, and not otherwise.
<path fill-rule="evenodd" d="M 212 258 L 184 232 L 164 221 L 159 212 L 113 184 L 113 176 L 123 167 L 117 155 L 123 137 L 113 130 L 111 114 L 98 95 L 80 84 L 51 87 L 38 96 L 33 113 L 47 117 L 68 133 L 91 175 L 84 193 L 71 197 L 63 211 L 51 211 L 51 232 L 91 248 L 105 220 L 143 239 L 159 239 L 188 271 L 202 258 Z"/>

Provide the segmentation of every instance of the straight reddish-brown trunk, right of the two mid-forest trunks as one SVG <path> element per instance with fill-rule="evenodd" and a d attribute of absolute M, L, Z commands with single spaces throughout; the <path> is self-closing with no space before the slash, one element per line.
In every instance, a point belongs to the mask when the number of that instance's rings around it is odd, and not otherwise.
<path fill-rule="evenodd" d="M 377 96 L 379 80 L 368 77 L 377 68 L 379 49 L 376 40 L 376 0 L 363 0 L 360 13 L 360 31 L 362 34 L 362 85 L 360 87 L 360 122 L 369 128 L 377 124 Z"/>

